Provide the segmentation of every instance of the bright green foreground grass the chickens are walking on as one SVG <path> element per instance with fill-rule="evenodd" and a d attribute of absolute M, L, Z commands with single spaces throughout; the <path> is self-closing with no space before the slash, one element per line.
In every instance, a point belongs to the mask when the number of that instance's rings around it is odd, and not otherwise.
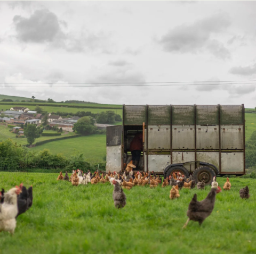
<path fill-rule="evenodd" d="M 1 188 L 33 184 L 33 206 L 17 219 L 13 236 L 0 233 L 0 253 L 255 253 L 256 180 L 230 179 L 231 191 L 217 195 L 210 217 L 199 227 L 187 220 L 194 193 L 198 200 L 210 187 L 181 190 L 169 199 L 170 187 L 135 187 L 124 190 L 127 204 L 116 209 L 109 184 L 79 185 L 57 182 L 58 174 L 0 173 Z M 218 178 L 220 186 L 225 179 Z M 251 198 L 239 198 L 248 185 Z"/>

